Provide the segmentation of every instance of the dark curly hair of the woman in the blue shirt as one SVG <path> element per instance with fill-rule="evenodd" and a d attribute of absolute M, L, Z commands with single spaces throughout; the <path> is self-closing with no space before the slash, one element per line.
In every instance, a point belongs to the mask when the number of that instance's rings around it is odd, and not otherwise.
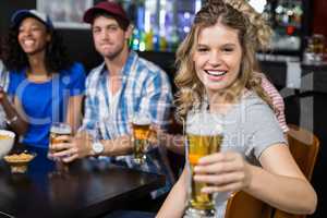
<path fill-rule="evenodd" d="M 22 23 L 22 22 L 21 22 Z M 20 25 L 10 27 L 8 36 L 3 40 L 2 61 L 8 70 L 20 71 L 29 65 L 27 55 L 23 51 L 17 36 Z M 48 28 L 51 40 L 46 46 L 45 65 L 48 72 L 59 72 L 71 65 L 61 36 L 53 28 Z"/>

